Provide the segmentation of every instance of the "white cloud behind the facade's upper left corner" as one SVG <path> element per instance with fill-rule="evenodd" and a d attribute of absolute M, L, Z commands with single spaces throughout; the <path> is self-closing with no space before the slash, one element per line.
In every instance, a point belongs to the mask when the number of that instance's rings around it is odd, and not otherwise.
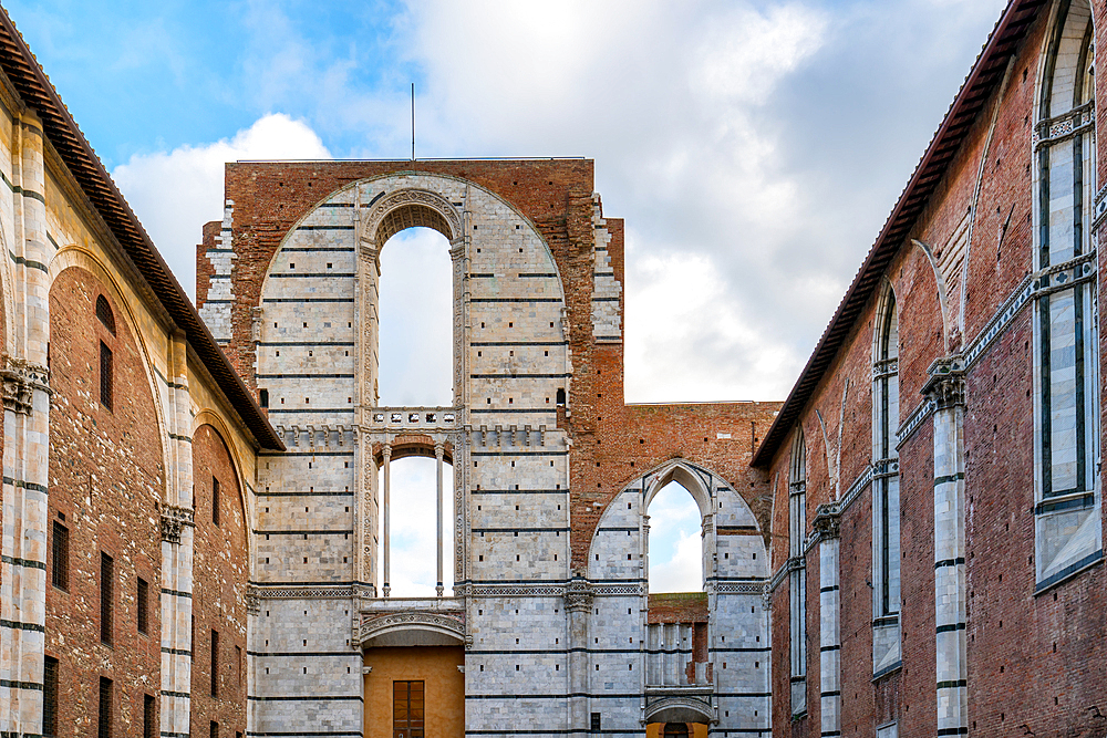
<path fill-rule="evenodd" d="M 239 159 L 327 159 L 330 152 L 303 121 L 280 113 L 211 144 L 136 154 L 112 177 L 185 292 L 195 300 L 196 245 L 209 220 L 223 219 L 224 165 Z"/>

